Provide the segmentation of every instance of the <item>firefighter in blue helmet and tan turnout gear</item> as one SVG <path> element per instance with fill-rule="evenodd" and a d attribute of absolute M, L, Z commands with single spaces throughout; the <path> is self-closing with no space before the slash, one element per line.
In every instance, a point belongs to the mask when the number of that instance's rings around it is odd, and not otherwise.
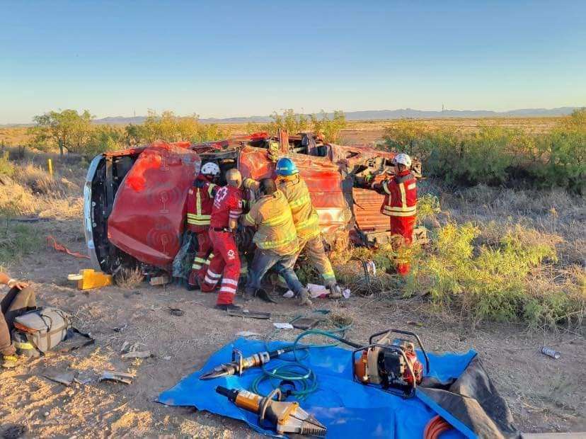
<path fill-rule="evenodd" d="M 291 208 L 293 222 L 299 239 L 299 253 L 305 250 L 309 262 L 318 270 L 323 278 L 324 285 L 330 289 L 329 297 L 340 298 L 342 292 L 336 283 L 332 264 L 323 248 L 319 217 L 311 203 L 309 189 L 303 178 L 299 176 L 299 170 L 292 159 L 282 157 L 277 161 L 277 188 L 285 194 L 287 203 Z M 246 178 L 243 186 L 256 188 L 258 183 Z"/>

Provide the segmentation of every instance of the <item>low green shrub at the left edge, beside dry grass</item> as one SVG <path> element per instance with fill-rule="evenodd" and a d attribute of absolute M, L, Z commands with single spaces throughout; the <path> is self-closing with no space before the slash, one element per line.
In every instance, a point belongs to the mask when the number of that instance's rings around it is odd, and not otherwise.
<path fill-rule="evenodd" d="M 0 220 L 0 266 L 8 268 L 33 253 L 42 245 L 42 239 L 28 224 Z"/>

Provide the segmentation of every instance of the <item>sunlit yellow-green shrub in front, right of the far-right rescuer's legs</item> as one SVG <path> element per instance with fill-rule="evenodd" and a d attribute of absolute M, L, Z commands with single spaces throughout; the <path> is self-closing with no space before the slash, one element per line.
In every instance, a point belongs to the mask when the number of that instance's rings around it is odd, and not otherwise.
<path fill-rule="evenodd" d="M 557 261 L 551 240 L 520 226 L 493 225 L 484 240 L 483 233 L 473 224 L 452 223 L 437 230 L 432 249 L 415 258 L 406 293 L 429 294 L 438 307 L 454 309 L 473 323 L 554 326 L 582 318 L 583 289 L 573 282 L 556 285 L 534 273 L 545 261 Z M 536 289 L 536 283 L 544 287 Z"/>

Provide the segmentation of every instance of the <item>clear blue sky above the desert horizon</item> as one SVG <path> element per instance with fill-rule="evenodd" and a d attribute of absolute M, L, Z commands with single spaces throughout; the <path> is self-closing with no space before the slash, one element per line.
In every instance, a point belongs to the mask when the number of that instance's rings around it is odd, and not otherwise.
<path fill-rule="evenodd" d="M 0 0 L 0 123 L 57 108 L 586 104 L 586 1 Z"/>

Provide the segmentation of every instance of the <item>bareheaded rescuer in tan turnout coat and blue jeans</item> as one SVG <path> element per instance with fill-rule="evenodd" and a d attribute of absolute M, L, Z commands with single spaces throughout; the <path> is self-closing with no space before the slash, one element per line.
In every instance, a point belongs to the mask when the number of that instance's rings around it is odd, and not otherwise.
<path fill-rule="evenodd" d="M 254 297 L 263 276 L 274 267 L 296 295 L 297 302 L 311 305 L 309 292 L 293 270 L 299 246 L 287 198 L 277 189 L 272 178 L 261 180 L 258 188 L 261 197 L 242 220 L 245 226 L 257 227 L 253 238 L 257 249 L 248 272 L 244 298 L 251 300 Z"/>

